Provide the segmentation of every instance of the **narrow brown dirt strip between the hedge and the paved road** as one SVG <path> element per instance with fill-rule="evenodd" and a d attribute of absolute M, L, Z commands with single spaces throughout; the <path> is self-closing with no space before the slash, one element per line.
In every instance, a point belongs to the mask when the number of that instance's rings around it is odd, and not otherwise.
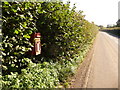
<path fill-rule="evenodd" d="M 71 77 L 69 88 L 86 88 L 87 87 L 87 82 L 88 82 L 89 74 L 91 71 L 90 65 L 91 65 L 98 33 L 95 36 L 94 40 L 92 41 L 92 44 L 89 46 L 89 50 L 87 51 L 83 62 L 78 66 L 75 75 Z"/>

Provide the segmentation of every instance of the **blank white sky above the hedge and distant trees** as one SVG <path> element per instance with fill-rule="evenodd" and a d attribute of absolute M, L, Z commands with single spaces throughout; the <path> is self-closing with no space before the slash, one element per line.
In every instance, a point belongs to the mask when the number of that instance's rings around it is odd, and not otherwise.
<path fill-rule="evenodd" d="M 68 0 L 63 0 L 68 1 Z M 120 0 L 69 0 L 76 9 L 82 10 L 85 19 L 97 25 L 116 24 L 118 20 L 118 2 Z"/>

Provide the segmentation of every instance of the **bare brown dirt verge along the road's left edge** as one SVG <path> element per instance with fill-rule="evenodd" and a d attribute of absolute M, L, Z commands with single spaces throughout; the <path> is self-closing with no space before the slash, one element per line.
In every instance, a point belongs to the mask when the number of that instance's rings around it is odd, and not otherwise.
<path fill-rule="evenodd" d="M 70 80 L 70 88 L 86 88 L 86 77 L 87 77 L 87 72 L 89 69 L 89 65 L 91 63 L 91 58 L 93 55 L 94 51 L 94 45 L 95 41 L 89 50 L 87 56 L 84 58 L 83 62 L 80 64 L 78 69 L 76 70 L 76 74 L 72 77 Z"/>

